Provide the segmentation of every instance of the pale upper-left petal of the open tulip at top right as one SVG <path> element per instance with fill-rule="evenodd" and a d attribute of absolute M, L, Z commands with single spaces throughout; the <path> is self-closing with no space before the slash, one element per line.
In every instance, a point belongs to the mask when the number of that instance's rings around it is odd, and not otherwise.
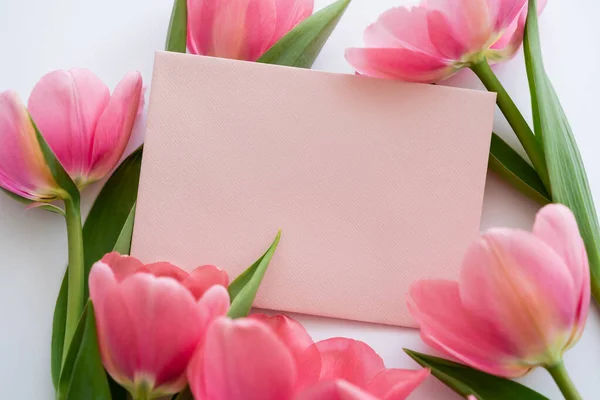
<path fill-rule="evenodd" d="M 430 56 L 440 56 L 429 39 L 425 7 L 395 7 L 377 19 L 365 30 L 365 44 L 373 48 L 406 48 Z"/>

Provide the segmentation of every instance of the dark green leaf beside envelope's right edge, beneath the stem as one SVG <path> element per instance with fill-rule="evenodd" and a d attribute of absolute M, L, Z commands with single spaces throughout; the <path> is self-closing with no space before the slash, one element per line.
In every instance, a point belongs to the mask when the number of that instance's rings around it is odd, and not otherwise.
<path fill-rule="evenodd" d="M 492 134 L 489 167 L 521 193 L 538 203 L 552 202 L 535 169 L 495 133 Z"/>

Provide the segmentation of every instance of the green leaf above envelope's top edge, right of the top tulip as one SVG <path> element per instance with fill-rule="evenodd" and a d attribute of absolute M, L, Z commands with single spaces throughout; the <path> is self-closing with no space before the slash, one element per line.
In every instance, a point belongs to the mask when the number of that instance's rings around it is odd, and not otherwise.
<path fill-rule="evenodd" d="M 310 68 L 349 4 L 350 0 L 338 0 L 306 18 L 275 43 L 258 62 Z"/>

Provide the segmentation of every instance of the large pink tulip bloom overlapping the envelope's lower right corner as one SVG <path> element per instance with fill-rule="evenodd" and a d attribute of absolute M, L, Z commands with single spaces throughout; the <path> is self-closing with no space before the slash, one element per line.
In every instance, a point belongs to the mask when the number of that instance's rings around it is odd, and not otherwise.
<path fill-rule="evenodd" d="M 589 301 L 585 247 L 562 205 L 544 207 L 533 233 L 483 234 L 467 251 L 460 282 L 420 281 L 408 296 L 426 343 L 505 377 L 559 365 L 583 332 Z"/>

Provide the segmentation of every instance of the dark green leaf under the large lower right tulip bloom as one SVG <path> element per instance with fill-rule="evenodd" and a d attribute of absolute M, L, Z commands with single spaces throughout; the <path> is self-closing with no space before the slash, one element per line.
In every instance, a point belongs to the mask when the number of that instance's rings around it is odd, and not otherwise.
<path fill-rule="evenodd" d="M 547 400 L 541 394 L 509 379 L 477 371 L 463 364 L 404 349 L 413 360 L 450 389 L 463 397 L 475 395 L 478 400 Z"/>

